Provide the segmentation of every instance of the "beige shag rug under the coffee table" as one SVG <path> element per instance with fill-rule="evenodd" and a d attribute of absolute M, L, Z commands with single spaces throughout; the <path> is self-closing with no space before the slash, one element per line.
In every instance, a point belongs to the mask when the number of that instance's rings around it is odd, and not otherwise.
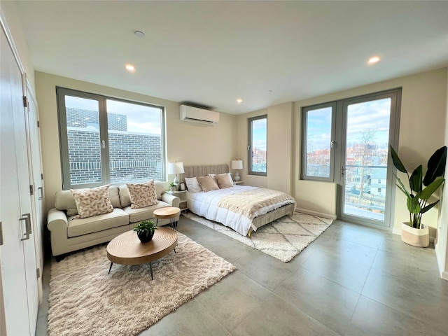
<path fill-rule="evenodd" d="M 136 335 L 235 270 L 180 232 L 153 281 L 149 264 L 110 264 L 106 245 L 52 262 L 48 335 Z"/>

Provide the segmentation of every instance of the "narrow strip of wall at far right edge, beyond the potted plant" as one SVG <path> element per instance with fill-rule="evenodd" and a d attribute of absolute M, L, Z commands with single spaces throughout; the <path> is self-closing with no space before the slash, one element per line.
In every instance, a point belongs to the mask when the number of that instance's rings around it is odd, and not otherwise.
<path fill-rule="evenodd" d="M 448 69 L 447 69 L 448 78 Z M 447 79 L 448 82 L 448 79 Z M 448 83 L 447 83 L 448 87 Z M 445 109 L 448 116 L 448 89 Z M 445 139 L 444 144 L 448 146 L 448 118 L 445 120 Z M 445 179 L 448 176 L 448 167 L 445 169 Z M 440 275 L 443 279 L 448 280 L 448 186 L 443 188 L 442 205 L 440 211 L 439 223 L 437 225 L 437 240 L 435 244 L 435 253 L 439 264 Z"/>

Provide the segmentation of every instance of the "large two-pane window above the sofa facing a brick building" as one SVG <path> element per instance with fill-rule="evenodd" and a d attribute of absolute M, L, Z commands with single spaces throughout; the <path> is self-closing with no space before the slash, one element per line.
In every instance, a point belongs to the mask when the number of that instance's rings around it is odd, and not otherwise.
<path fill-rule="evenodd" d="M 165 180 L 165 111 L 57 87 L 63 188 Z"/>

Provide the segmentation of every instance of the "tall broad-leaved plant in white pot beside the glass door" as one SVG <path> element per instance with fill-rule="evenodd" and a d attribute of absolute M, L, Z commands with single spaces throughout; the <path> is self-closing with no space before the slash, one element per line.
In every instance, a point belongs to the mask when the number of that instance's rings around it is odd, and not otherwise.
<path fill-rule="evenodd" d="M 392 146 L 391 155 L 395 168 L 407 174 L 407 179 L 409 180 L 409 191 L 407 191 L 398 176 L 393 174 L 398 181 L 398 189 L 407 197 L 406 205 L 409 211 L 409 222 L 403 222 L 401 225 L 401 240 L 412 246 L 426 247 L 429 245 L 429 230 L 428 226 L 421 223 L 421 216 L 439 202 L 437 200 L 434 203 L 428 204 L 431 195 L 445 181 L 442 176 L 444 175 L 447 162 L 447 146 L 437 149 L 430 157 L 428 160 L 428 171 L 424 179 L 423 167 L 421 165 L 416 167 L 411 176 L 409 176 L 405 165 L 402 164 Z M 423 186 L 426 188 L 423 188 Z"/>

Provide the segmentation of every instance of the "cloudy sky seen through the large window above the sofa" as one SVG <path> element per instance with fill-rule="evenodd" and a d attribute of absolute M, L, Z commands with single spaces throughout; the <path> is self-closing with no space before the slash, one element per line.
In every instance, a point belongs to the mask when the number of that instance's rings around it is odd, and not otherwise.
<path fill-rule="evenodd" d="M 66 96 L 65 104 L 73 109 L 98 111 L 98 102 L 94 99 Z M 160 134 L 162 130 L 158 108 L 113 99 L 106 99 L 106 108 L 108 113 L 127 116 L 128 132 Z"/>

